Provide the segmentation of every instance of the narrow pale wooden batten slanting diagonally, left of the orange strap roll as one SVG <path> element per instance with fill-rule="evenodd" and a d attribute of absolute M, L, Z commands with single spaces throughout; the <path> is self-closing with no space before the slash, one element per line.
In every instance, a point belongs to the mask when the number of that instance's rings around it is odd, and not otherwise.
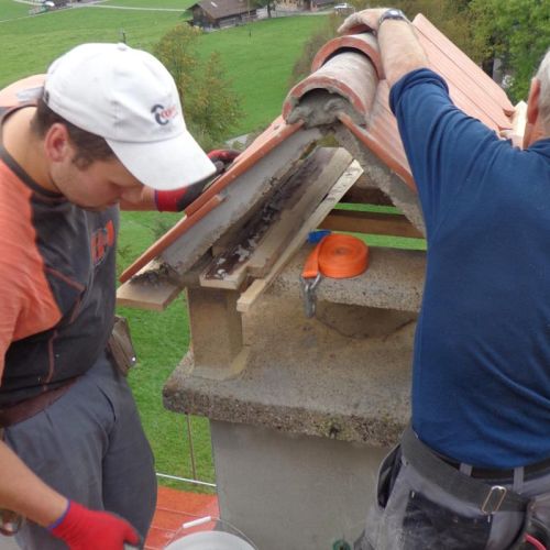
<path fill-rule="evenodd" d="M 360 164 L 356 161 L 350 164 L 349 168 L 338 179 L 330 193 L 316 208 L 311 216 L 301 226 L 294 239 L 287 245 L 283 254 L 279 255 L 270 273 L 264 278 L 255 279 L 237 300 L 237 310 L 245 314 L 250 310 L 256 299 L 270 286 L 275 277 L 285 267 L 286 263 L 293 257 L 298 249 L 306 241 L 309 232 L 319 227 L 327 215 L 334 208 L 334 205 L 343 197 L 345 191 L 358 180 L 363 173 Z"/>

